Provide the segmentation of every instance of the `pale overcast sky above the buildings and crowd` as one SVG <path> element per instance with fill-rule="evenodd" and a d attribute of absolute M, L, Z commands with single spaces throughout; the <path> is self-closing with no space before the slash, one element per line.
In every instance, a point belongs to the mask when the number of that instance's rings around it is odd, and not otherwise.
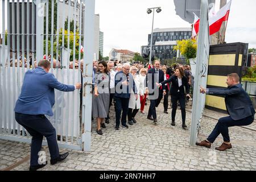
<path fill-rule="evenodd" d="M 216 0 L 216 6 L 219 4 L 220 0 Z M 112 48 L 140 52 L 151 33 L 152 13 L 148 15 L 147 8 L 158 6 L 162 7 L 162 12 L 155 14 L 154 28 L 191 26 L 176 15 L 173 0 L 96 0 L 95 13 L 100 14 L 100 28 L 104 32 L 104 56 L 108 56 Z M 226 42 L 243 42 L 256 47 L 255 9 L 255 0 L 232 1 Z M 0 17 L 2 32 L 2 12 Z"/>

